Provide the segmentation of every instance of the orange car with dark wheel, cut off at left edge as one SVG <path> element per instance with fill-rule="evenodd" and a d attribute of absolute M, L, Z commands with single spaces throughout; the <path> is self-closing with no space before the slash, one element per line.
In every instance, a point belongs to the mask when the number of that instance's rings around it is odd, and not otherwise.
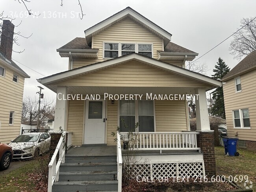
<path fill-rule="evenodd" d="M 0 142 L 0 170 L 6 170 L 13 159 L 13 150 L 7 144 L 1 144 Z"/>

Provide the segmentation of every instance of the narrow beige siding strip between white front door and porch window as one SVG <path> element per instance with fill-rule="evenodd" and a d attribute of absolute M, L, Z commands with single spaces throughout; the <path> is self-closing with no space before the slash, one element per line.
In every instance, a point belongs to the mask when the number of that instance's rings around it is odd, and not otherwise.
<path fill-rule="evenodd" d="M 114 104 L 108 100 L 108 115 L 107 115 L 107 145 L 116 145 L 114 141 L 115 137 L 111 135 L 112 132 L 117 132 L 117 123 L 118 123 L 118 102 Z"/>

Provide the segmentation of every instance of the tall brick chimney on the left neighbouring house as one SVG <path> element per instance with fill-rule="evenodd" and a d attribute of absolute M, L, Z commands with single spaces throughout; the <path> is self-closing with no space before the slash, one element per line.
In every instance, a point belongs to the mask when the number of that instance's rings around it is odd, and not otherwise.
<path fill-rule="evenodd" d="M 13 52 L 13 34 L 14 24 L 10 20 L 3 20 L 0 53 L 9 61 L 11 61 L 11 54 Z"/>

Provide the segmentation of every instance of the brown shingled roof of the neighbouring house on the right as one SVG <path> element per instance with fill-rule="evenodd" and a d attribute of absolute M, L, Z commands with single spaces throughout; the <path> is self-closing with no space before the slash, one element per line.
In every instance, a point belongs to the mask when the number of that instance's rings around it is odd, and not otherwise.
<path fill-rule="evenodd" d="M 251 52 L 242 61 L 240 61 L 228 74 L 226 74 L 221 81 L 226 81 L 230 78 L 234 78 L 240 74 L 243 74 L 249 70 L 256 68 L 256 51 Z"/>

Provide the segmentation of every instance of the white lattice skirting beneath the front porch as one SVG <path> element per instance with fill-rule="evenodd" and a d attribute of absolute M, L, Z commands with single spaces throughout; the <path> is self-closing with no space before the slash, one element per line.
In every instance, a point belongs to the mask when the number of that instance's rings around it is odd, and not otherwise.
<path fill-rule="evenodd" d="M 171 177 L 203 177 L 204 162 L 177 162 L 158 164 L 135 164 L 130 167 L 133 177 L 150 177 L 151 179 L 171 178 Z"/>

